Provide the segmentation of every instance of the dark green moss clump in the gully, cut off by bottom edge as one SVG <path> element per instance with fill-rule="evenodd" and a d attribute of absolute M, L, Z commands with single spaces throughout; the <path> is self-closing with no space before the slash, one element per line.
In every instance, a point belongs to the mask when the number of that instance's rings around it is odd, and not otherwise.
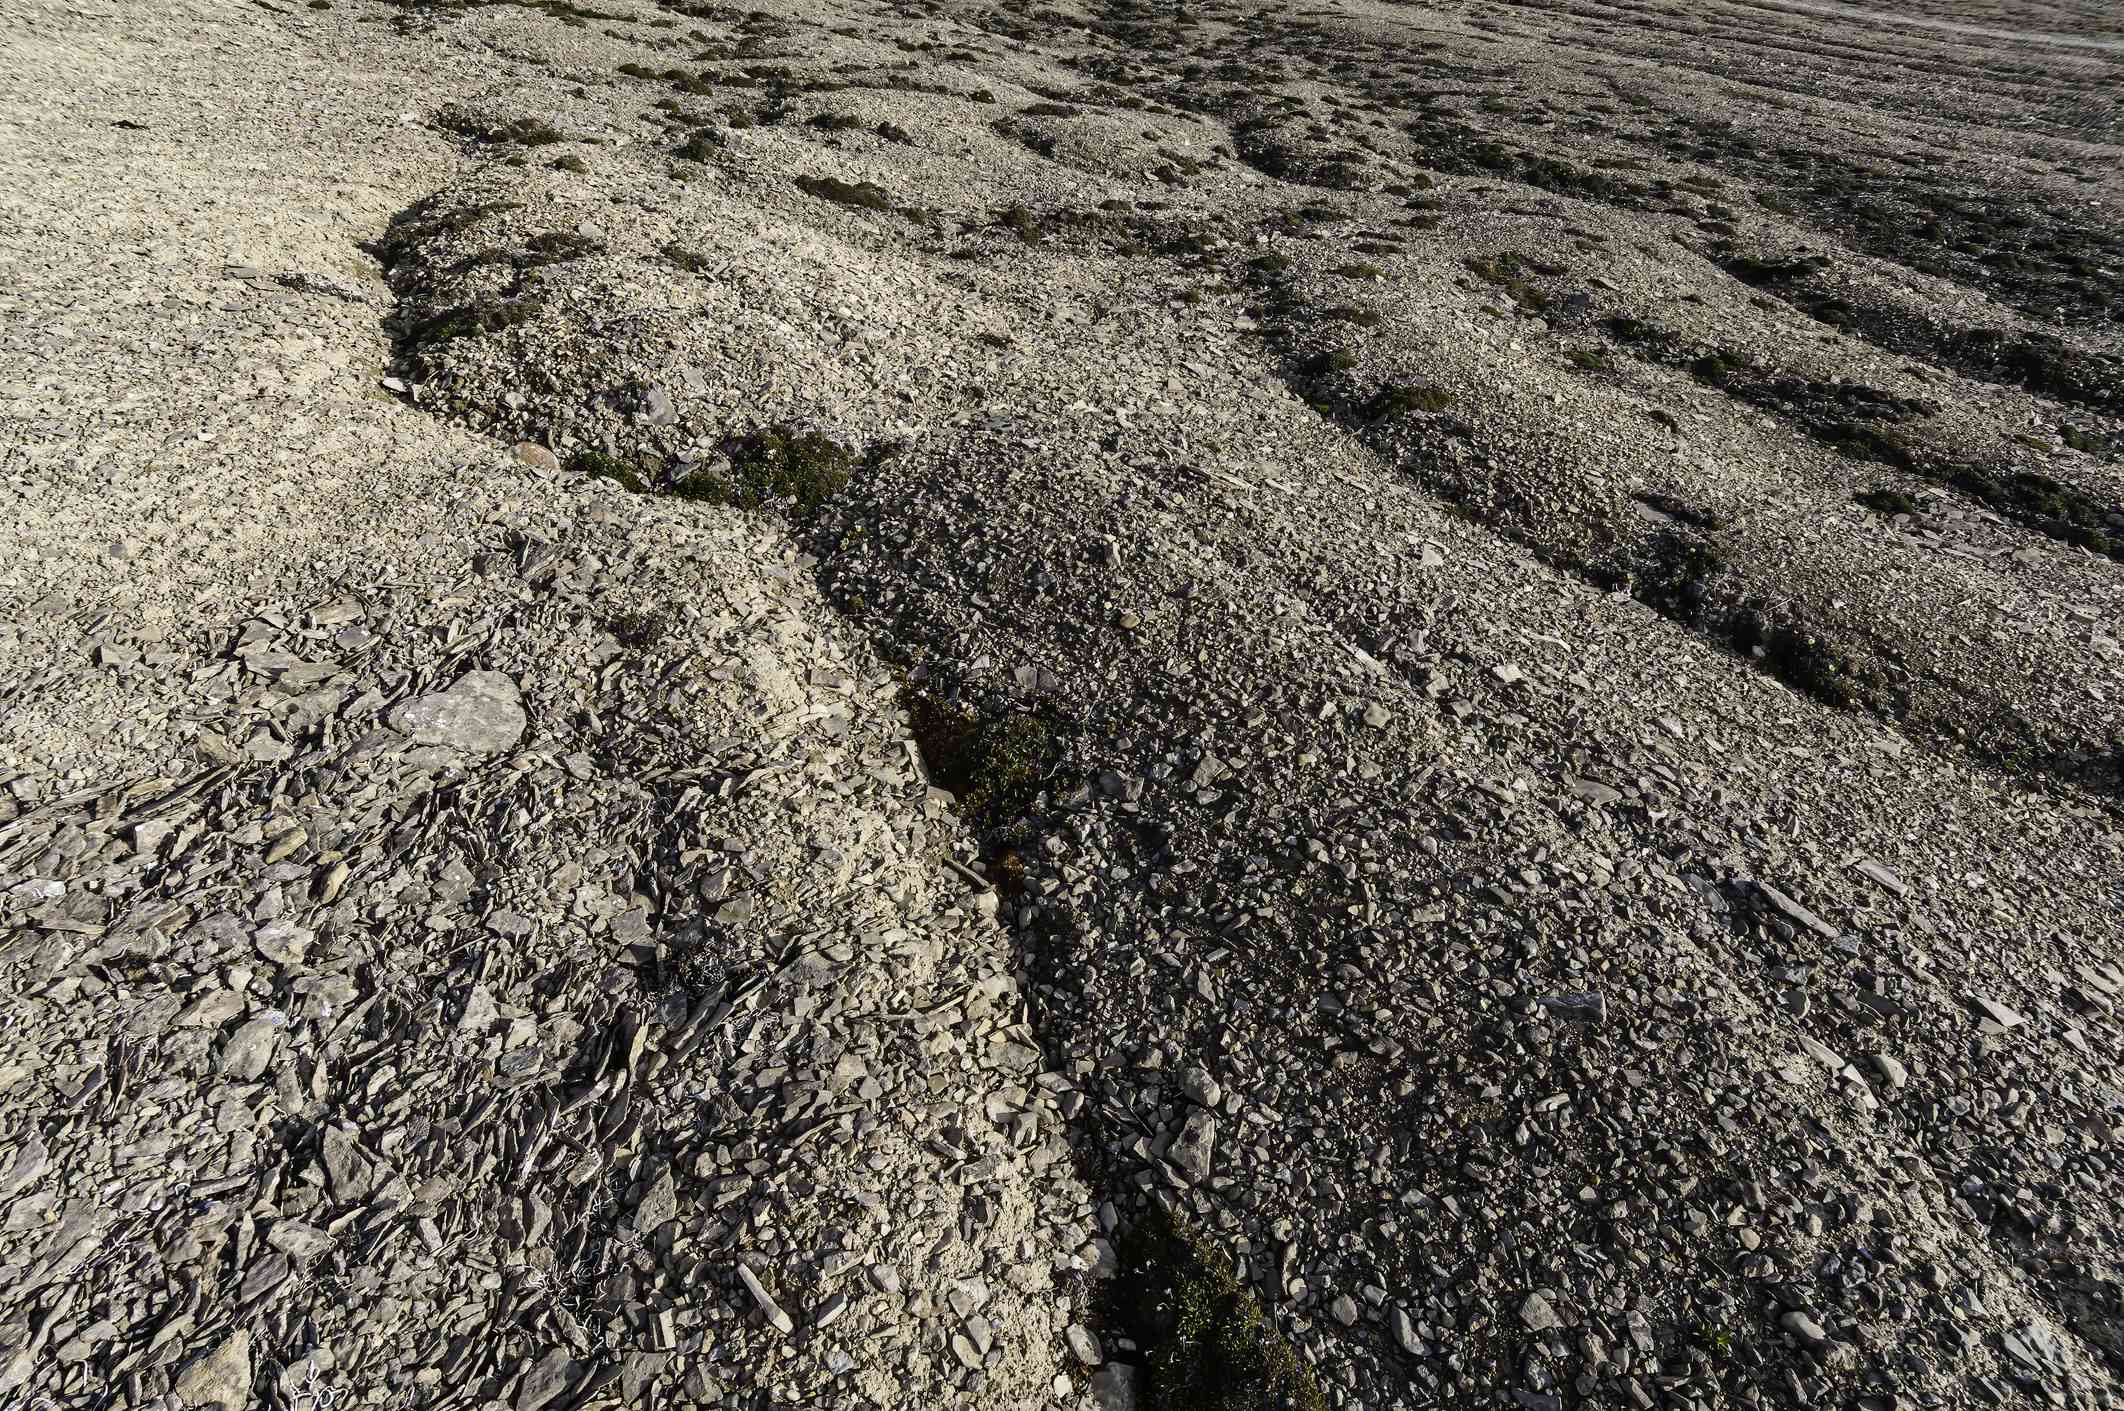
<path fill-rule="evenodd" d="M 1117 1254 L 1107 1322 L 1147 1352 L 1145 1411 L 1325 1411 L 1313 1371 L 1209 1235 L 1153 1209 Z"/>

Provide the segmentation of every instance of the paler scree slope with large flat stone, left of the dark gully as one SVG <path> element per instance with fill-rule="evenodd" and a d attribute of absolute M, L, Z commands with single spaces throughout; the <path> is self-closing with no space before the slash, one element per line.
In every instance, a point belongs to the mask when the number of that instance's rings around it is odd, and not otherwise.
<path fill-rule="evenodd" d="M 378 385 L 472 66 L 8 42 L 0 1392 L 1051 1398 L 1081 1096 L 898 680 L 771 523 Z"/>

